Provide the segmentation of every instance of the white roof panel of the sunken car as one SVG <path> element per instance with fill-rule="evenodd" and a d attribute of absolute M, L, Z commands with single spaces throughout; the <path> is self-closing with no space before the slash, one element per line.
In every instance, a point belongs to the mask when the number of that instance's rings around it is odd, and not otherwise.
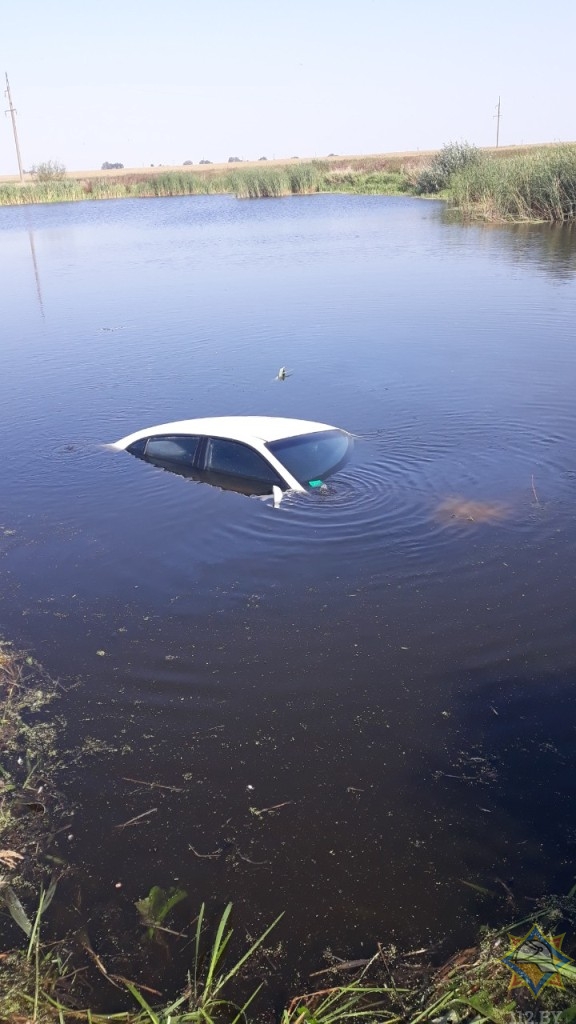
<path fill-rule="evenodd" d="M 277 441 L 283 437 L 297 437 L 299 434 L 318 433 L 320 430 L 339 429 L 328 423 L 291 420 L 281 416 L 214 416 L 199 420 L 176 420 L 173 423 L 146 427 L 121 438 L 116 444 L 125 447 L 132 441 L 157 433 L 213 434 L 249 443 L 254 440 Z"/>

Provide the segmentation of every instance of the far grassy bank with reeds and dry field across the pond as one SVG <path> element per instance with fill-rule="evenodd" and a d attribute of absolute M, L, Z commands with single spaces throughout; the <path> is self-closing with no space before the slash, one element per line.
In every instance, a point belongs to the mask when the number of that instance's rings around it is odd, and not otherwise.
<path fill-rule="evenodd" d="M 90 199 L 314 193 L 435 197 L 465 219 L 576 220 L 576 145 L 479 150 L 450 143 L 437 154 L 332 158 L 209 168 L 142 169 L 0 183 L 0 205 Z"/>

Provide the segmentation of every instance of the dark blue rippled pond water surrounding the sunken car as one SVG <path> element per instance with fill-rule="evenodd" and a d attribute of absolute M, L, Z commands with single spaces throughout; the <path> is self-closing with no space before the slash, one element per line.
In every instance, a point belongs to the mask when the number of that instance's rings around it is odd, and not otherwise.
<path fill-rule="evenodd" d="M 105 748 L 63 779 L 99 948 L 152 885 L 187 889 L 179 925 L 286 910 L 318 966 L 569 889 L 573 233 L 86 203 L 0 210 L 0 633 L 63 679 L 67 743 Z M 274 509 L 101 446 L 224 414 L 333 423 L 355 457 Z"/>

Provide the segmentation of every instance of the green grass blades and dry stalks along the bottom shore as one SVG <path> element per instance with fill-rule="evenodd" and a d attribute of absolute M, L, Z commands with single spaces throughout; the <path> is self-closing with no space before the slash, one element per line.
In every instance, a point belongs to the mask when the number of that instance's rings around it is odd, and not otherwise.
<path fill-rule="evenodd" d="M 485 930 L 474 947 L 455 953 L 443 966 L 405 957 L 393 947 L 378 945 L 373 956 L 336 963 L 320 972 L 329 977 L 321 987 L 308 987 L 285 1001 L 280 1017 L 273 1010 L 266 989 L 264 964 L 271 950 L 265 940 L 277 919 L 244 952 L 231 955 L 232 904 L 208 927 L 204 904 L 190 942 L 191 969 L 183 991 L 172 999 L 142 982 L 138 984 L 99 968 L 118 994 L 118 1004 L 133 1000 L 133 1009 L 98 1013 L 86 1008 L 86 988 L 78 987 L 82 968 L 74 968 L 65 953 L 66 943 L 43 944 L 42 918 L 50 893 L 42 892 L 34 922 L 30 923 L 26 949 L 0 958 L 0 1021 L 2 1024 L 513 1024 L 528 1021 L 526 1011 L 556 1015 L 554 1024 L 576 1019 L 576 967 L 557 964 L 558 978 L 544 987 L 538 1001 L 527 987 L 510 991 L 511 972 L 503 963 L 510 951 L 512 932 L 518 938 L 538 922 L 544 936 L 558 935 L 566 924 L 574 928 L 573 895 L 547 899 L 533 913 L 505 930 Z M 417 950 L 421 954 L 424 950 Z M 262 954 L 260 956 L 260 954 Z M 97 959 L 91 950 L 91 955 Z M 526 963 L 526 962 L 525 962 Z M 533 977 L 549 971 L 550 961 L 536 951 L 530 959 Z M 348 980 L 342 980 L 342 974 Z M 349 977 L 352 975 L 352 977 Z M 561 985 L 558 985 L 558 981 Z M 537 1018 L 536 1020 L 539 1020 Z M 550 1016 L 545 1018 L 551 1022 Z"/>

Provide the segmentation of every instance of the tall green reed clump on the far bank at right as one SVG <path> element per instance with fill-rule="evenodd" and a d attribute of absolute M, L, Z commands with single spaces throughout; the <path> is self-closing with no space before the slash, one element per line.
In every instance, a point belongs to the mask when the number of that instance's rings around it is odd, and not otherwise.
<path fill-rule="evenodd" d="M 453 176 L 449 195 L 468 219 L 573 222 L 576 146 L 559 145 L 507 160 L 485 157 Z"/>

